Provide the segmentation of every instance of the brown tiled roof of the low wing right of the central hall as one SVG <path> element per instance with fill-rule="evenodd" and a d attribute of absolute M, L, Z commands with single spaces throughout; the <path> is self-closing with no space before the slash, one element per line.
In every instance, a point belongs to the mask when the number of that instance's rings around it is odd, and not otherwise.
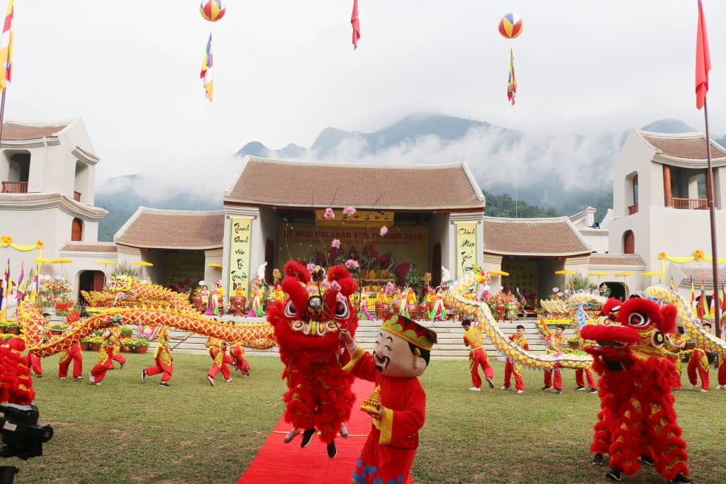
<path fill-rule="evenodd" d="M 590 253 L 567 217 L 484 217 L 484 252 L 500 255 L 576 255 Z"/>

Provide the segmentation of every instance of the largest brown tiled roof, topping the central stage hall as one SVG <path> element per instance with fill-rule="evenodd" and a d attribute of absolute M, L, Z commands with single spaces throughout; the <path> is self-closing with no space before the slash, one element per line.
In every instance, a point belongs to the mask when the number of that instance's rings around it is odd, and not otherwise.
<path fill-rule="evenodd" d="M 484 208 L 464 163 L 356 165 L 249 157 L 225 202 L 298 207 Z"/>

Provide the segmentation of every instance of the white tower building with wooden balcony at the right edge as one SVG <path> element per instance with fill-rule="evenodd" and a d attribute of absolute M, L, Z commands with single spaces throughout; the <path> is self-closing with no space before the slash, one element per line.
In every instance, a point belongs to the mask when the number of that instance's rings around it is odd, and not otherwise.
<path fill-rule="evenodd" d="M 724 234 L 726 213 L 726 149 L 711 141 L 716 226 Z M 690 276 L 711 287 L 711 263 L 674 263 L 661 259 L 711 255 L 709 210 L 706 200 L 706 137 L 702 133 L 663 134 L 632 131 L 613 166 L 613 220 L 610 252 L 638 254 L 645 271 L 661 272 L 688 295 Z M 717 237 L 717 251 L 726 256 L 726 238 Z M 724 266 L 719 269 L 719 282 Z M 641 278 L 640 288 L 657 277 Z M 709 290 L 710 295 L 710 290 Z"/>

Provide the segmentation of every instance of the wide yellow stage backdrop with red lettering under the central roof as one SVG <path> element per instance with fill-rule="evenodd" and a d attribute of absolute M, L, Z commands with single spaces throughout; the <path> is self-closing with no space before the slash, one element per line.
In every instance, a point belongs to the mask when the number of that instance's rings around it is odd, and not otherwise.
<path fill-rule="evenodd" d="M 378 228 L 365 229 L 340 225 L 335 227 L 321 227 L 313 223 L 295 223 L 294 226 L 280 223 L 278 230 L 278 244 L 282 248 L 277 265 L 282 268 L 288 258 L 302 261 L 312 261 L 316 255 L 328 256 L 330 263 L 333 253 L 341 253 L 344 259 L 354 258 L 361 266 L 366 267 L 365 261 L 370 255 L 381 261 L 392 256 L 394 266 L 410 262 L 416 266 L 421 274 L 431 272 L 429 267 L 428 226 L 394 226 L 384 237 L 380 236 Z M 333 250 L 333 239 L 340 241 L 338 250 Z M 376 267 L 378 268 L 378 267 Z"/>

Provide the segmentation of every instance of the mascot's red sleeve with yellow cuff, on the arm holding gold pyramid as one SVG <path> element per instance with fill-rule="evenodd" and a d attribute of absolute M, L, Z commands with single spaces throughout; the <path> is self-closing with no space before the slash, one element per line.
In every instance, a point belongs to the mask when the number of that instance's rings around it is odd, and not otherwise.
<path fill-rule="evenodd" d="M 417 446 L 418 431 L 426 417 L 426 393 L 417 378 L 412 378 L 406 392 L 405 410 L 383 408 L 380 419 L 380 440 L 378 443 L 398 448 Z"/>

